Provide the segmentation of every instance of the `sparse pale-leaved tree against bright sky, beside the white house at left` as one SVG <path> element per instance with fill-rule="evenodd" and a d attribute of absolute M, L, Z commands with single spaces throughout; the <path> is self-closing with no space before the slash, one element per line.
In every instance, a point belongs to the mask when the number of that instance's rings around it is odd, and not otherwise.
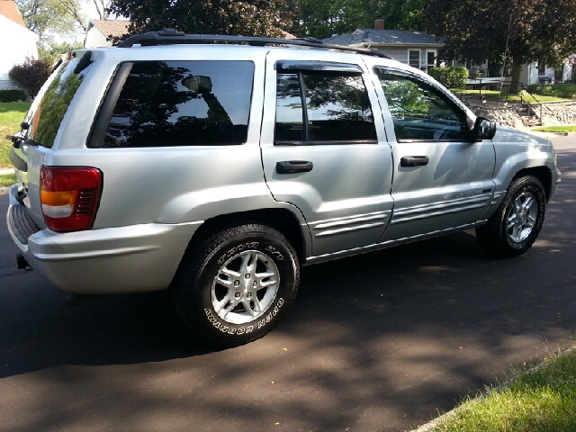
<path fill-rule="evenodd" d="M 85 31 L 86 19 L 78 0 L 16 0 L 28 30 L 49 39 L 50 33 L 62 37 Z"/>

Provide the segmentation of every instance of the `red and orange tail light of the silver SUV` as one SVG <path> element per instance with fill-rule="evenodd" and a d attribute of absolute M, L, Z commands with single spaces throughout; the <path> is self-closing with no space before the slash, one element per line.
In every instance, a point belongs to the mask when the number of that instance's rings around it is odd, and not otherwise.
<path fill-rule="evenodd" d="M 102 172 L 91 167 L 42 166 L 40 203 L 49 229 L 91 229 L 102 192 Z"/>

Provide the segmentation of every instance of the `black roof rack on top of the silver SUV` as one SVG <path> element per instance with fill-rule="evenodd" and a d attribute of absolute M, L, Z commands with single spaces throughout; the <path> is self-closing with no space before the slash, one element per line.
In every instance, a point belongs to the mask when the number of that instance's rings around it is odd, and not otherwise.
<path fill-rule="evenodd" d="M 180 43 L 230 43 L 246 44 L 257 47 L 266 45 L 293 45 L 298 47 L 320 48 L 320 49 L 338 49 L 340 51 L 351 51 L 369 56 L 382 58 L 392 58 L 388 54 L 378 49 L 354 48 L 342 45 L 330 45 L 316 38 L 306 37 L 298 39 L 282 38 L 256 38 L 253 36 L 229 36 L 219 34 L 185 34 L 184 31 L 175 31 L 174 29 L 165 29 L 163 31 L 148 31 L 147 33 L 135 34 L 127 40 L 122 40 L 118 48 L 130 48 L 134 45 L 153 46 L 153 45 L 173 45 Z"/>

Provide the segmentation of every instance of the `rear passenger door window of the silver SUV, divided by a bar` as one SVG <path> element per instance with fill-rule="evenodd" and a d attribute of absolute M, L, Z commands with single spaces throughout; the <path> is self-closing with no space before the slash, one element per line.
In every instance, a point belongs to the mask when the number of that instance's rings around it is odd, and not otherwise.
<path fill-rule="evenodd" d="M 361 76 L 278 74 L 277 143 L 375 139 L 374 116 Z"/>

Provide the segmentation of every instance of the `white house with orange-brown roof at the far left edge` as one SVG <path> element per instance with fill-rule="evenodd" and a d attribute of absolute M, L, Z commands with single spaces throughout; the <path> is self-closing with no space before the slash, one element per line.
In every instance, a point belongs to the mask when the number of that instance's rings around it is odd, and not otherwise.
<path fill-rule="evenodd" d="M 26 58 L 38 58 L 38 35 L 26 28 L 14 0 L 0 0 L 0 40 L 0 90 L 18 88 L 8 73 Z"/>

